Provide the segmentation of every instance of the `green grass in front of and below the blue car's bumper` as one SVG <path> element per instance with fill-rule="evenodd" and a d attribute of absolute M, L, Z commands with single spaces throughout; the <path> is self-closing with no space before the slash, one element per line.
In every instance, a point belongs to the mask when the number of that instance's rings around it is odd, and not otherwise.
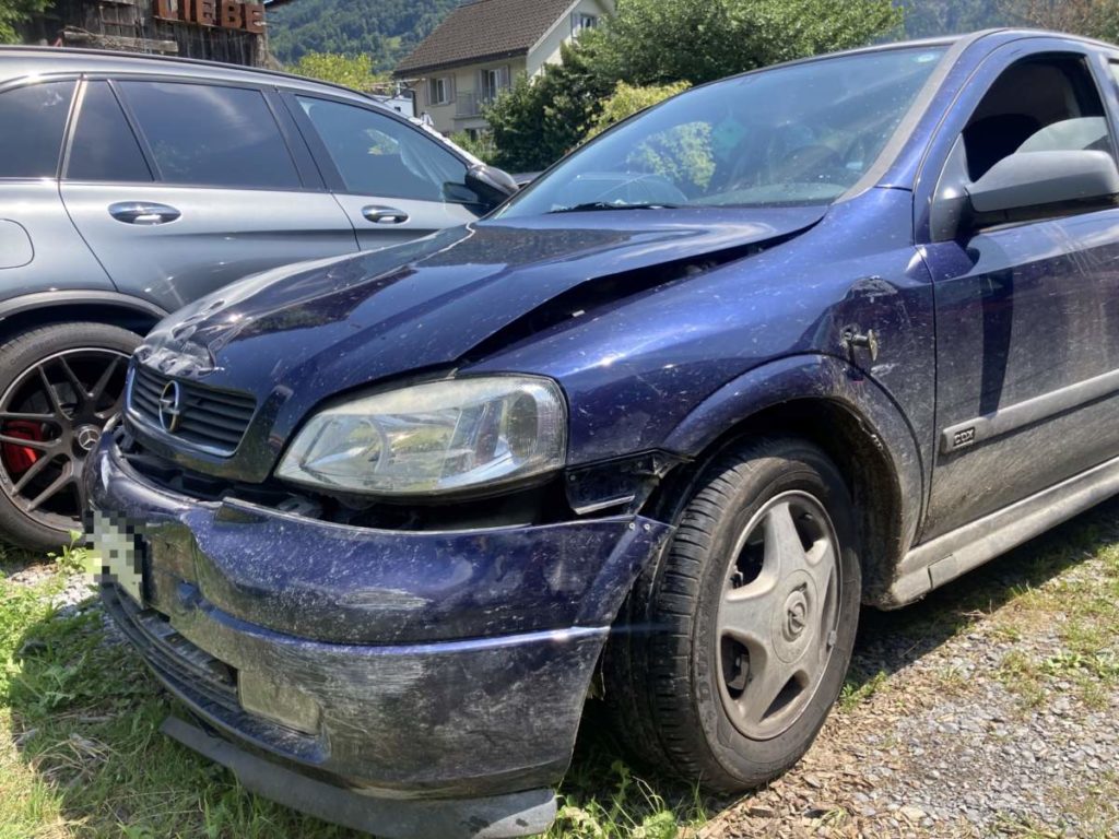
<path fill-rule="evenodd" d="M 105 643 L 100 611 L 49 605 L 84 559 L 62 552 L 34 585 L 0 574 L 0 839 L 359 836 L 248 794 L 159 734 L 172 700 L 126 645 Z M 548 837 L 673 839 L 705 819 L 694 791 L 666 798 L 593 743 Z"/>

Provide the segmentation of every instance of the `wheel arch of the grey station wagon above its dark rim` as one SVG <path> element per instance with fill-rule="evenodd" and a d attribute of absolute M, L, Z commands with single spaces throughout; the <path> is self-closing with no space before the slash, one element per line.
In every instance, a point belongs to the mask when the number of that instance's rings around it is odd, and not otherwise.
<path fill-rule="evenodd" d="M 37 292 L 0 302 L 0 343 L 67 321 L 96 321 L 144 334 L 167 314 L 154 303 L 119 292 Z"/>

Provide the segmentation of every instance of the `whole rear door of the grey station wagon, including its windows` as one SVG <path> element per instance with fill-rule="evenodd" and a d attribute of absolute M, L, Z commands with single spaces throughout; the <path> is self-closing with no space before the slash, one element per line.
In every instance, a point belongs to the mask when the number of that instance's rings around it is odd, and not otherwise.
<path fill-rule="evenodd" d="M 357 251 L 274 92 L 100 78 L 79 95 L 62 196 L 121 291 L 173 310 L 247 274 Z"/>

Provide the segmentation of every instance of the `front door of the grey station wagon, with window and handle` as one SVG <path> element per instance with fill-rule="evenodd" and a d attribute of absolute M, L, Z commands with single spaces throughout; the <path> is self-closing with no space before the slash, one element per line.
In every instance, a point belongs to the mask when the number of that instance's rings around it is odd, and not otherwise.
<path fill-rule="evenodd" d="M 285 95 L 363 249 L 454 227 L 482 211 L 467 164 L 438 139 L 376 107 Z"/>

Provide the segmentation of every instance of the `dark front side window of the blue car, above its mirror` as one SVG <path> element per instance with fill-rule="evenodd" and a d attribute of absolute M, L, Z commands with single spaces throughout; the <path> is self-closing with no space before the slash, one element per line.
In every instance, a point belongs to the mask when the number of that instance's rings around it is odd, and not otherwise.
<path fill-rule="evenodd" d="M 1004 72 L 963 129 L 963 148 L 972 181 L 1018 151 L 1113 153 L 1103 103 L 1080 56 L 1029 59 Z"/>

